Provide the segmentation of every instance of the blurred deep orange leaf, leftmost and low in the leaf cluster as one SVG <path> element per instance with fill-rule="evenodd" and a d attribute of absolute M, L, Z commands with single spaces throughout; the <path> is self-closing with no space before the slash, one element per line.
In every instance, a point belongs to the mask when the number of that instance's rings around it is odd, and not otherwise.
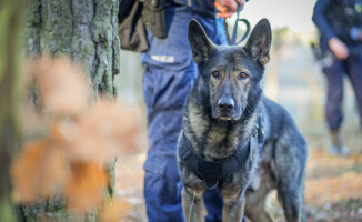
<path fill-rule="evenodd" d="M 64 153 L 49 140 L 28 143 L 10 168 L 16 202 L 34 203 L 61 191 L 67 178 Z"/>

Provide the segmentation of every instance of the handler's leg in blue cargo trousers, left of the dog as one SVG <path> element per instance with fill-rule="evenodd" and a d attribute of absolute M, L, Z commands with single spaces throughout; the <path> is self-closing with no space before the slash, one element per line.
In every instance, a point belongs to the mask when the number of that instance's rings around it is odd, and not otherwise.
<path fill-rule="evenodd" d="M 190 17 L 185 7 L 167 8 L 168 37 L 158 39 L 148 32 L 150 50 L 141 59 L 148 119 L 144 201 L 150 222 L 184 221 L 175 145 L 185 98 L 197 75 L 185 34 Z"/>

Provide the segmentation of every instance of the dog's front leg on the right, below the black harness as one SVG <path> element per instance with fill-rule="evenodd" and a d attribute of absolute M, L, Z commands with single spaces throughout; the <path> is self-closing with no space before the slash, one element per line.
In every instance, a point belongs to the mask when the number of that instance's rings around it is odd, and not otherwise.
<path fill-rule="evenodd" d="M 223 199 L 222 222 L 240 222 L 244 214 L 245 199 Z"/>

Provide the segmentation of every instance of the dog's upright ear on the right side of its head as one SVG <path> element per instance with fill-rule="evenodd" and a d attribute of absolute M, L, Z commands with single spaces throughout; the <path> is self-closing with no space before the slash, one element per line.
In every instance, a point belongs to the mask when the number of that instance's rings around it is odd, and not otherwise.
<path fill-rule="evenodd" d="M 244 47 L 262 67 L 270 60 L 269 50 L 271 39 L 272 33 L 270 23 L 268 19 L 262 19 L 254 27 Z"/>

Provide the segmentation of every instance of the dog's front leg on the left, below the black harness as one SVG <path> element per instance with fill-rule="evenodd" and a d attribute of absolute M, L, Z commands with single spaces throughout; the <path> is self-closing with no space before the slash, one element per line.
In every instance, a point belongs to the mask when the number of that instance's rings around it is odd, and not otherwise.
<path fill-rule="evenodd" d="M 203 221 L 202 194 L 203 191 L 182 188 L 181 199 L 185 222 Z"/>

